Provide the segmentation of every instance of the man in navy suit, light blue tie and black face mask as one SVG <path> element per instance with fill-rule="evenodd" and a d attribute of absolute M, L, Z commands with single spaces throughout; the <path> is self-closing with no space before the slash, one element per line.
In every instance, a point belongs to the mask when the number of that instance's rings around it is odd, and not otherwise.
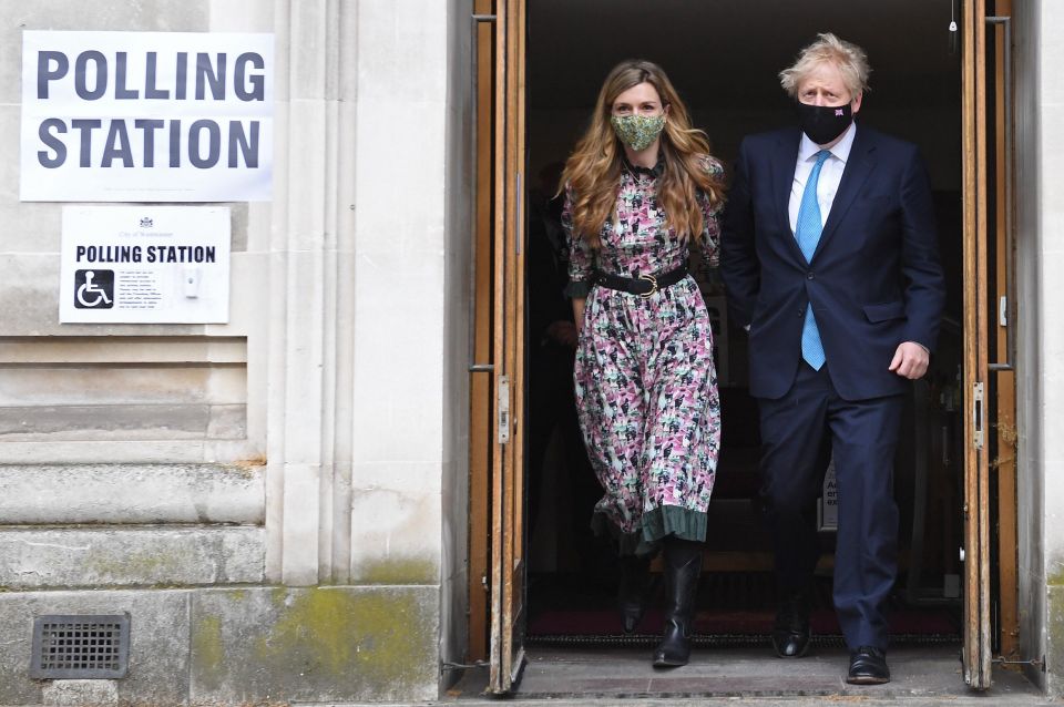
<path fill-rule="evenodd" d="M 847 680 L 886 683 L 897 573 L 892 469 L 903 393 L 928 369 L 944 301 L 931 191 L 915 146 L 858 125 L 864 52 L 820 34 L 780 72 L 799 127 L 744 140 L 722 236 L 733 317 L 749 330 L 750 393 L 780 596 L 780 657 L 809 644 L 816 499 L 838 482 L 835 607 Z"/>

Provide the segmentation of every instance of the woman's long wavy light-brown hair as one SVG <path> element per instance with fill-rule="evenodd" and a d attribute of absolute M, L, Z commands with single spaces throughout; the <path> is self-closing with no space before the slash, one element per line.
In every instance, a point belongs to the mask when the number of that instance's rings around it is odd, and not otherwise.
<path fill-rule="evenodd" d="M 704 227 L 696 192 L 702 191 L 713 206 L 723 201 L 719 173 L 709 173 L 705 161 L 709 141 L 690 126 L 690 116 L 676 89 L 661 66 L 649 61 L 623 61 L 606 76 L 587 131 L 565 163 L 562 185 L 572 193 L 573 234 L 598 247 L 600 234 L 616 206 L 624 147 L 610 124 L 613 102 L 641 83 L 657 90 L 662 107 L 668 106 L 661 150 L 665 171 L 657 187 L 657 201 L 665 211 L 667 225 L 684 237 L 697 240 Z"/>

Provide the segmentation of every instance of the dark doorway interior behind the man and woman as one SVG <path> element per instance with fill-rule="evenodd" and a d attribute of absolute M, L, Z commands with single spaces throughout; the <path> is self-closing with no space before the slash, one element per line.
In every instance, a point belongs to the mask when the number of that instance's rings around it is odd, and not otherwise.
<path fill-rule="evenodd" d="M 597 483 L 582 459 L 572 397 L 571 352 L 548 332 L 564 319 L 549 245 L 559 237 L 560 163 L 583 130 L 600 83 L 620 60 L 659 63 L 727 165 L 746 134 L 794 122 L 776 78 L 818 31 L 863 47 L 872 91 L 860 122 L 920 145 L 931 174 L 949 299 L 932 370 L 913 386 L 896 464 L 902 514 L 896 641 L 960 639 L 962 465 L 960 380 L 961 64 L 951 48 L 949 0 L 529 0 L 529 400 L 530 643 L 649 643 L 659 613 L 640 636 L 621 635 L 616 568 L 587 527 Z M 724 437 L 710 505 L 697 627 L 700 641 L 764 642 L 774 606 L 770 545 L 759 514 L 757 408 L 746 388 L 745 332 L 727 321 L 719 279 L 704 273 L 716 314 Z M 830 504 L 825 505 L 820 597 L 814 631 L 833 641 Z"/>

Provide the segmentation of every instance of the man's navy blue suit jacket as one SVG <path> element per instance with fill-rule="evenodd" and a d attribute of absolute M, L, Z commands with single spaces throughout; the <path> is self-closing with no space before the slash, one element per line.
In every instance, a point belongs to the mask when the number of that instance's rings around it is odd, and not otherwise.
<path fill-rule="evenodd" d="M 724 215 L 722 274 L 733 318 L 749 325 L 750 395 L 790 389 L 808 303 L 839 396 L 904 392 L 890 361 L 902 341 L 934 348 L 945 299 L 927 170 L 915 145 L 858 125 L 807 263 L 788 216 L 800 139 L 797 127 L 746 137 Z"/>

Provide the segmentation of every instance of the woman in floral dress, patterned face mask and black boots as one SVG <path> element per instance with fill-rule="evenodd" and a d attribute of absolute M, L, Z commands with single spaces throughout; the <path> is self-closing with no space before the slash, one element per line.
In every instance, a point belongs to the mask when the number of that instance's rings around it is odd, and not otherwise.
<path fill-rule="evenodd" d="M 625 61 L 562 176 L 576 406 L 605 491 L 592 523 L 618 547 L 626 632 L 642 618 L 646 563 L 664 550 L 656 667 L 689 658 L 720 442 L 713 335 L 687 263 L 694 247 L 716 265 L 722 174 L 662 69 Z"/>

